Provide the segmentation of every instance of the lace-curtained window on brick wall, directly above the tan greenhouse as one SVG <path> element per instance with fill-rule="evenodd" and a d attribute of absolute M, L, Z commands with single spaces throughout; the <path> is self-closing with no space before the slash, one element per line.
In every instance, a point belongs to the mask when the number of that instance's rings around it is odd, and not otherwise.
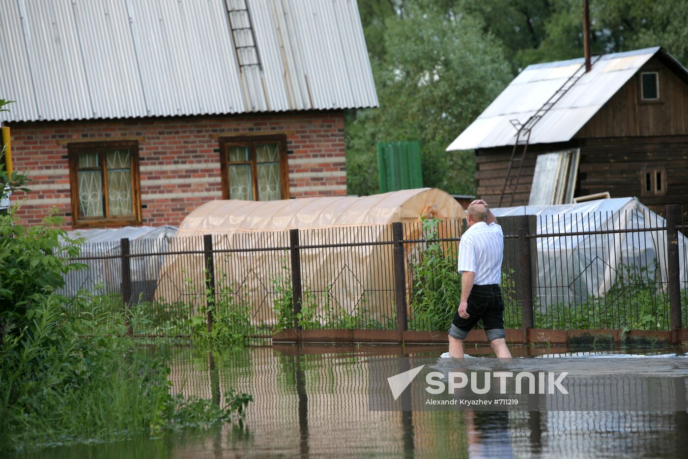
<path fill-rule="evenodd" d="M 225 199 L 275 201 L 289 197 L 286 136 L 220 139 Z"/>

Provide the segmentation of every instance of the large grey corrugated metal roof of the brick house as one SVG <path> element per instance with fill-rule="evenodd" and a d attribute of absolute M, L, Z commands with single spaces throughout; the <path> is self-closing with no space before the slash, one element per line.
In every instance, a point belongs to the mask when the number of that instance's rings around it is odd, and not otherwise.
<path fill-rule="evenodd" d="M 0 0 L 0 17 L 0 120 L 378 105 L 356 0 Z"/>

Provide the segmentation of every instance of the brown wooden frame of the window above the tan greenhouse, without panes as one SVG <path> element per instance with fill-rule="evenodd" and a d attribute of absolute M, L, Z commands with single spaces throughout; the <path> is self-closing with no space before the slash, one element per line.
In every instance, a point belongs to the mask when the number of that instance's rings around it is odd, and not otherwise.
<path fill-rule="evenodd" d="M 248 161 L 233 161 L 232 164 L 250 164 L 251 181 L 253 187 L 253 201 L 258 201 L 258 174 L 255 144 L 277 142 L 279 144 L 279 184 L 281 188 L 281 198 L 289 199 L 289 170 L 287 161 L 287 136 L 284 134 L 257 134 L 255 136 L 234 136 L 221 137 L 219 139 L 219 164 L 220 174 L 222 174 L 222 198 L 230 199 L 229 196 L 229 164 L 227 157 L 228 147 L 248 146 Z"/>

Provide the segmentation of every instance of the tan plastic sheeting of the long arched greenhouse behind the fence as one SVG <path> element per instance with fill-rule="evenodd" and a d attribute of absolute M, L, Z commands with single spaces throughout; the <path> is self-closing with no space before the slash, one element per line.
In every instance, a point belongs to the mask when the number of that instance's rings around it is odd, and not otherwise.
<path fill-rule="evenodd" d="M 300 245 L 338 245 L 341 243 L 391 241 L 388 223 L 409 223 L 423 216 L 442 220 L 465 218 L 461 205 L 442 190 L 420 188 L 372 196 L 299 198 L 283 201 L 211 201 L 201 205 L 184 218 L 175 236 L 175 250 L 202 250 L 202 235 L 213 234 L 213 249 L 258 249 L 287 247 L 291 229 L 300 232 Z M 442 234 L 442 236 L 456 236 Z M 412 247 L 407 247 L 409 252 Z M 394 308 L 394 272 L 391 245 L 360 245 L 301 250 L 303 290 L 338 292 L 336 303 L 356 314 L 365 303 L 366 292 L 386 291 L 385 298 L 376 299 L 376 318 L 391 317 Z M 409 253 L 410 255 L 410 253 Z M 275 263 L 276 256 L 288 254 L 275 251 L 233 252 L 215 254 L 215 276 L 222 278 L 233 292 L 249 298 L 255 323 L 275 319 L 272 307 L 266 307 L 266 287 L 284 273 Z M 346 265 L 342 264 L 346 260 Z M 288 265 L 288 261 L 286 261 Z M 219 269 L 218 269 L 219 267 Z M 355 274 L 355 275 L 354 275 Z M 203 256 L 168 256 L 162 274 L 174 285 L 204 291 Z M 250 281 L 246 281 L 250 278 Z M 190 285 L 191 284 L 191 285 Z M 162 282 L 161 282 L 162 285 Z M 155 298 L 173 302 L 170 289 L 158 287 Z M 258 309 L 262 308 L 259 314 Z M 266 310 L 267 309 L 267 310 Z"/>

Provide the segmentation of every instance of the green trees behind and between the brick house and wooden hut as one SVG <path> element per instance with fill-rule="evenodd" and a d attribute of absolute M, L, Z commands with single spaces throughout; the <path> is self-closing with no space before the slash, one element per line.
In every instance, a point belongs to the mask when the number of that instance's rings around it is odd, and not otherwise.
<path fill-rule="evenodd" d="M 377 143 L 420 141 L 423 185 L 475 194 L 473 152 L 444 149 L 526 65 L 583 56 L 580 0 L 358 0 L 379 100 L 347 114 L 347 191 L 378 192 Z M 688 64 L 686 0 L 590 2 L 590 46 L 663 46 Z"/>

